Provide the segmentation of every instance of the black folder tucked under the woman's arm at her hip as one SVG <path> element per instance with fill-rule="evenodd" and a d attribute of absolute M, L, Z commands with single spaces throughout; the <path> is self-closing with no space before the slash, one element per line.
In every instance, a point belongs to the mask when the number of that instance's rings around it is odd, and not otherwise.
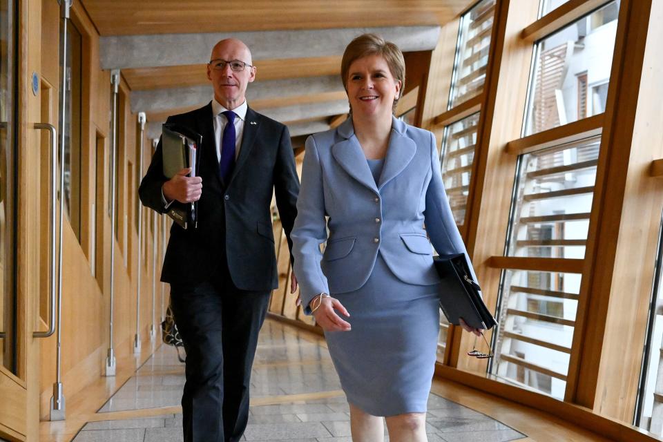
<path fill-rule="evenodd" d="M 433 262 L 442 281 L 440 307 L 450 323 L 459 325 L 459 318 L 463 318 L 477 329 L 497 325 L 481 299 L 481 287 L 472 280 L 465 253 L 436 256 Z"/>

